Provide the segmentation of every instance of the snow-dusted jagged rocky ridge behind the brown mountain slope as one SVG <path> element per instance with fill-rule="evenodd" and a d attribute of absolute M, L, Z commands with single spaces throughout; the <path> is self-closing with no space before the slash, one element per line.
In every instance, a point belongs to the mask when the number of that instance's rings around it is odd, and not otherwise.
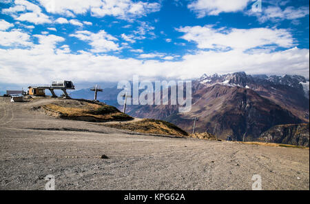
<path fill-rule="evenodd" d="M 236 72 L 223 75 L 203 75 L 198 81 L 207 86 L 222 84 L 249 88 L 289 110 L 303 121 L 309 121 L 309 81 L 303 76 L 251 76 L 245 72 Z"/>

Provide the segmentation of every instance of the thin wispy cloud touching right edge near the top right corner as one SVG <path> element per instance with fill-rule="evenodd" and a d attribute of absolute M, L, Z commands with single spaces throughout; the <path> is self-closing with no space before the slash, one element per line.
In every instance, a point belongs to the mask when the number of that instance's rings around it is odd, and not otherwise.
<path fill-rule="evenodd" d="M 280 6 L 269 6 L 262 10 L 262 12 L 247 12 L 250 16 L 256 16 L 260 23 L 264 23 L 266 21 L 283 21 L 285 19 L 288 20 L 296 20 L 309 15 L 309 6 L 301 6 L 300 8 L 294 8 L 293 6 L 289 6 L 282 10 Z"/>

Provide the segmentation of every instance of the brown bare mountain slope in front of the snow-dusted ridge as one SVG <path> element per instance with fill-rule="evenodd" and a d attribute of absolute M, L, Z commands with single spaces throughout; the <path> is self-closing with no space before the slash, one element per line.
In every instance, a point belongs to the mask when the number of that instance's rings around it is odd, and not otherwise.
<path fill-rule="evenodd" d="M 188 132 L 192 131 L 192 118 L 198 117 L 198 132 L 207 131 L 220 139 L 231 134 L 235 140 L 241 140 L 243 134 L 246 134 L 249 141 L 258 138 L 273 125 L 302 122 L 254 90 L 220 84 L 196 90 L 192 110 L 187 113 L 178 113 L 176 105 L 138 105 L 129 114 L 156 116 Z"/>

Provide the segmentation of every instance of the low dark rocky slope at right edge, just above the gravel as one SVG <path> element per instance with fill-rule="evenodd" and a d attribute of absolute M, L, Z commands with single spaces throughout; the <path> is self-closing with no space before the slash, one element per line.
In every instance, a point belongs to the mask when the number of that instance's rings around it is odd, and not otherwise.
<path fill-rule="evenodd" d="M 261 141 L 309 147 L 309 123 L 276 125 L 262 133 Z"/>

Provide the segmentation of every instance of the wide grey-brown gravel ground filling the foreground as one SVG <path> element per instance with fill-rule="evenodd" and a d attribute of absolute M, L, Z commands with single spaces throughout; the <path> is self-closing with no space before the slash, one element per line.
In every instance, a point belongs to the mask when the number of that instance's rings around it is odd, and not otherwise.
<path fill-rule="evenodd" d="M 0 97 L 0 190 L 309 190 L 309 150 L 134 134 Z M 109 159 L 101 159 L 101 155 Z"/>

